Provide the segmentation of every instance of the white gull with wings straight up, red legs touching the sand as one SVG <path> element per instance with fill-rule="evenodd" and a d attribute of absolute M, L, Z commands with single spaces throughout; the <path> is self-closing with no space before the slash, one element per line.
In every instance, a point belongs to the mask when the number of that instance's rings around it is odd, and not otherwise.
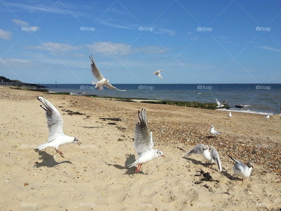
<path fill-rule="evenodd" d="M 152 149 L 154 145 L 152 141 L 152 132 L 149 132 L 145 110 L 142 109 L 141 114 L 140 111 L 138 111 L 138 118 L 140 119 L 140 122 L 136 123 L 134 148 L 138 153 L 139 158 L 132 164 L 128 165 L 128 167 L 133 167 L 138 164 L 138 168 L 135 171 L 136 173 L 140 171 L 142 164 L 150 160 L 159 156 L 162 156 L 165 159 L 165 156 L 160 149 Z"/>

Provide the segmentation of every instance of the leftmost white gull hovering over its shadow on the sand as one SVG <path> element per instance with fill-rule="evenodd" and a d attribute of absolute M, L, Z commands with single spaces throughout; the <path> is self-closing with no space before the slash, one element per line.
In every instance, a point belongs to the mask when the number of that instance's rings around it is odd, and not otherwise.
<path fill-rule="evenodd" d="M 43 103 L 43 106 L 42 105 L 40 106 L 46 111 L 45 114 L 47 117 L 49 138 L 47 143 L 39 144 L 38 147 L 36 147 L 36 149 L 42 150 L 45 149 L 46 147 L 52 147 L 55 148 L 56 152 L 62 156 L 63 153 L 58 150 L 59 146 L 68 143 L 80 145 L 81 143 L 78 142 L 78 139 L 76 137 L 70 137 L 68 135 L 64 135 L 64 132 L 62 131 L 62 125 L 64 124 L 64 120 L 62 120 L 59 111 L 45 98 L 37 97 L 37 100 Z M 64 156 L 62 157 L 64 158 Z"/>

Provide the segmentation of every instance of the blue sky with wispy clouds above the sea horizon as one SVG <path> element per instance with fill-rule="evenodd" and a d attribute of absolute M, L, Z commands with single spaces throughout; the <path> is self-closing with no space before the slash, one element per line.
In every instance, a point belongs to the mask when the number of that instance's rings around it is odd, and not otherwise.
<path fill-rule="evenodd" d="M 93 54 L 111 84 L 281 82 L 281 1 L 0 0 L 0 11 L 10 79 L 90 84 Z"/>

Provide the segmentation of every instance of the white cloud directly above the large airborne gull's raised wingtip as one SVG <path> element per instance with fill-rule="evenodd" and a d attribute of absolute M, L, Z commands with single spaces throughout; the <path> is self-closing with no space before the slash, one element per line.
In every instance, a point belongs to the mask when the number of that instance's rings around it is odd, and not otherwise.
<path fill-rule="evenodd" d="M 130 51 L 130 47 L 125 43 L 112 43 L 112 42 L 95 42 L 91 45 L 86 45 L 92 52 L 98 52 L 102 54 L 127 54 Z"/>

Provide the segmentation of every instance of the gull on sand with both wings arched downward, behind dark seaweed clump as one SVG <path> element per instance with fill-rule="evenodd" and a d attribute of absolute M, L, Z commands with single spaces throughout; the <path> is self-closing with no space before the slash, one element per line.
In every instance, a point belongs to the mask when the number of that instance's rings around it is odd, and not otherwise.
<path fill-rule="evenodd" d="M 211 152 L 209 151 L 211 149 Z M 217 166 L 219 167 L 220 171 L 222 171 L 222 164 L 220 163 L 220 157 L 219 154 L 217 154 L 217 150 L 215 150 L 214 147 L 210 147 L 208 145 L 203 144 L 197 144 L 195 147 L 193 147 L 191 150 L 186 152 L 184 154 L 185 157 L 188 157 L 191 154 L 202 154 L 203 158 L 208 161 L 208 163 L 211 163 L 211 168 L 213 166 L 213 163 L 217 163 Z"/>

